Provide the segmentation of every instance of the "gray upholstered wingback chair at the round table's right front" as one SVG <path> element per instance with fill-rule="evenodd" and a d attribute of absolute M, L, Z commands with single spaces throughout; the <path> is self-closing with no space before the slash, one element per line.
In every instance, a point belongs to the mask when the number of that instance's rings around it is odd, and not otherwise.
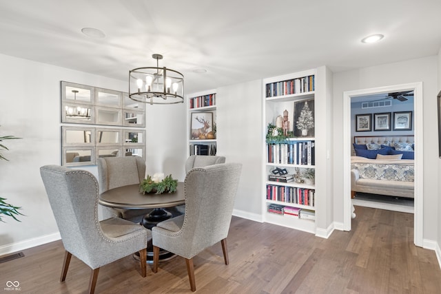
<path fill-rule="evenodd" d="M 197 167 L 185 177 L 185 213 L 152 228 L 153 271 L 158 271 L 159 249 L 185 258 L 192 291 L 196 291 L 193 257 L 220 241 L 229 264 L 227 235 L 238 189 L 240 163 Z"/>

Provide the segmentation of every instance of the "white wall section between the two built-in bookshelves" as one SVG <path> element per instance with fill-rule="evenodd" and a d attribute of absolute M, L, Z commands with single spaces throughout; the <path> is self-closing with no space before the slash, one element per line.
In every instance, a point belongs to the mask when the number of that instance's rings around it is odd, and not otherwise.
<path fill-rule="evenodd" d="M 218 87 L 216 104 L 218 155 L 243 164 L 234 214 L 261 220 L 262 81 Z"/>

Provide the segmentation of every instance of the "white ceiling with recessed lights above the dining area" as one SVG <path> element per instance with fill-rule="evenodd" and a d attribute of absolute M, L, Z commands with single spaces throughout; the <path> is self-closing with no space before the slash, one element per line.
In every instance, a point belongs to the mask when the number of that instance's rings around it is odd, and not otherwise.
<path fill-rule="evenodd" d="M 440 12 L 440 0 L 0 0 L 0 53 L 123 81 L 159 53 L 192 93 L 433 56 Z M 91 39 L 85 27 L 106 36 Z M 360 42 L 374 33 L 385 37 Z"/>

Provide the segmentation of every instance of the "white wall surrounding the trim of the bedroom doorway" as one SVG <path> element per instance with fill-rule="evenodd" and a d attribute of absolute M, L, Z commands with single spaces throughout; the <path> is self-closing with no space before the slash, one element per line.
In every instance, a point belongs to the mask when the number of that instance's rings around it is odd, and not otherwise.
<path fill-rule="evenodd" d="M 403 83 L 423 83 L 424 107 L 422 109 L 424 124 L 424 205 L 423 205 L 423 239 L 437 240 L 438 232 L 438 195 L 439 172 L 433 165 L 438 158 L 438 138 L 434 136 L 433 127 L 437 125 L 436 94 L 437 94 L 437 56 L 413 59 L 399 63 L 388 63 L 375 67 L 365 67 L 334 74 L 334 174 L 342 175 L 343 158 L 341 144 L 343 142 L 343 124 L 349 123 L 342 119 L 343 92 L 362 90 L 373 87 L 399 85 Z M 343 187 L 342 179 L 334 181 L 334 212 L 336 222 L 343 221 Z"/>

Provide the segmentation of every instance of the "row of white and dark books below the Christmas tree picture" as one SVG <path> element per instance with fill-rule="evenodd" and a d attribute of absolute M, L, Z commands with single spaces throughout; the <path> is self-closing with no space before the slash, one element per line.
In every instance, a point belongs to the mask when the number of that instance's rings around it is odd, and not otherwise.
<path fill-rule="evenodd" d="M 267 162 L 280 165 L 316 165 L 316 142 L 267 144 Z"/>

